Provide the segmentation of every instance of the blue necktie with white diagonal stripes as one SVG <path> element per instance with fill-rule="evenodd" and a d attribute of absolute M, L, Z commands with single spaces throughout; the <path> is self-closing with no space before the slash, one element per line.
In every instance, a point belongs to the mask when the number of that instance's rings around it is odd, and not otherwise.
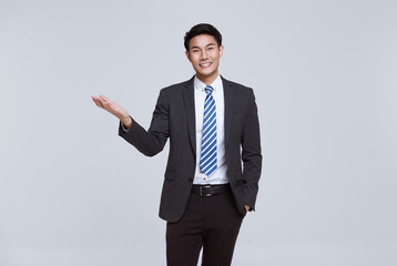
<path fill-rule="evenodd" d="M 217 167 L 216 155 L 216 109 L 212 96 L 213 88 L 205 88 L 203 139 L 201 145 L 201 171 L 210 176 Z"/>

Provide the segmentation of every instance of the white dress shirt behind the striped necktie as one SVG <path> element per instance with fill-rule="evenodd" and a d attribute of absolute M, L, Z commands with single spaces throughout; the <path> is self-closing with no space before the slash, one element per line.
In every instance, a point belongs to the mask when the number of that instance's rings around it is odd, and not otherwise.
<path fill-rule="evenodd" d="M 225 102 L 223 98 L 223 82 L 218 75 L 216 80 L 210 84 L 214 90 L 212 96 L 215 101 L 216 109 L 216 146 L 217 146 L 217 168 L 207 176 L 200 170 L 201 145 L 203 136 L 203 116 L 204 116 L 204 101 L 206 98 L 205 86 L 197 76 L 194 78 L 194 105 L 196 120 L 196 170 L 194 173 L 193 184 L 226 184 L 228 183 L 225 158 Z"/>

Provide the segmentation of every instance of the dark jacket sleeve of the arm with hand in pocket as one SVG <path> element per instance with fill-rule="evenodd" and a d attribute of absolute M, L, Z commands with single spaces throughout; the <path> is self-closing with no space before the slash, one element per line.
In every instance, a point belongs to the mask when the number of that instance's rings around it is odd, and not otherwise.
<path fill-rule="evenodd" d="M 258 181 L 262 171 L 259 121 L 253 90 L 251 90 L 248 110 L 245 117 L 241 144 L 243 180 L 245 183 L 245 204 L 248 205 L 251 207 L 250 211 L 252 211 L 255 209 Z"/>

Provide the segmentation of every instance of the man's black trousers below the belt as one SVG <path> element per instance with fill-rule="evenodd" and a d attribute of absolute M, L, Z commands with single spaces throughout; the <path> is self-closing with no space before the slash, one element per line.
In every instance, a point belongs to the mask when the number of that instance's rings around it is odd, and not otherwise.
<path fill-rule="evenodd" d="M 230 266 L 244 216 L 231 191 L 191 194 L 182 218 L 166 224 L 167 266 L 196 266 L 201 248 L 202 266 Z"/>

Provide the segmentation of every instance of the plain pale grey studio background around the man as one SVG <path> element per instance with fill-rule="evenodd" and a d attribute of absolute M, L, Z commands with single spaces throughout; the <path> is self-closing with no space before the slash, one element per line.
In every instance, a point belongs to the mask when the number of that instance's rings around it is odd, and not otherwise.
<path fill-rule="evenodd" d="M 0 265 L 165 265 L 165 151 L 116 135 L 105 94 L 147 127 L 224 37 L 253 86 L 264 170 L 234 265 L 397 265 L 396 1 L 0 1 Z"/>

